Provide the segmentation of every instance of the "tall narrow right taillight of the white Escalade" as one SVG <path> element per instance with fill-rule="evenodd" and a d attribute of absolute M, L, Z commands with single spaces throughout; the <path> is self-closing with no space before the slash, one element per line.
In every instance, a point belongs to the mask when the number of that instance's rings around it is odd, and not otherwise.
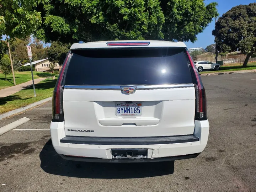
<path fill-rule="evenodd" d="M 192 57 L 190 56 L 190 53 L 187 51 L 188 58 L 190 60 L 190 64 L 193 68 L 193 73 L 196 78 L 196 120 L 206 120 L 207 119 L 207 110 L 206 110 L 206 93 L 204 86 L 202 84 L 202 80 L 200 78 L 200 75 L 197 71 L 196 65 L 194 64 Z"/>

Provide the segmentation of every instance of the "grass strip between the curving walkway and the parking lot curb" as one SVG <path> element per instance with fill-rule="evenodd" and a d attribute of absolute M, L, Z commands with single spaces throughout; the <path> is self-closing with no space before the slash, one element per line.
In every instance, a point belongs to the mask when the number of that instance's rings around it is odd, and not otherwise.
<path fill-rule="evenodd" d="M 34 97 L 33 86 L 31 86 L 16 94 L 0 98 L 0 114 L 51 97 L 56 81 L 52 79 L 43 80 L 36 84 L 36 97 Z"/>

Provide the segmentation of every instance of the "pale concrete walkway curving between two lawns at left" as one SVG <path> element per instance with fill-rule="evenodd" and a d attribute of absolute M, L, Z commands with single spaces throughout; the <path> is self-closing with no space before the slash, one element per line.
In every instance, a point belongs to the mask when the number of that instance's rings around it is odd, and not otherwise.
<path fill-rule="evenodd" d="M 39 78 L 39 79 L 34 79 L 34 84 L 38 84 L 40 81 L 43 81 L 44 79 L 47 78 Z M 19 84 L 19 85 L 15 85 L 12 87 L 7 87 L 5 89 L 1 89 L 0 90 L 0 98 L 1 97 L 7 97 L 9 95 L 15 94 L 16 92 L 22 90 L 22 89 L 26 89 L 27 87 L 33 85 L 32 80 L 31 81 L 27 81 L 25 83 Z"/>

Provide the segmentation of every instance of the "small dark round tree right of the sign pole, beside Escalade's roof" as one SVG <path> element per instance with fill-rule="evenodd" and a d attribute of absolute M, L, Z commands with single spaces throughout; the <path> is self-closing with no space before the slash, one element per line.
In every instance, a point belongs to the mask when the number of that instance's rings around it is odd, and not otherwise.
<path fill-rule="evenodd" d="M 62 65 L 68 53 L 70 44 L 62 42 L 52 42 L 51 46 L 47 50 L 48 59 L 52 63 L 59 63 Z"/>

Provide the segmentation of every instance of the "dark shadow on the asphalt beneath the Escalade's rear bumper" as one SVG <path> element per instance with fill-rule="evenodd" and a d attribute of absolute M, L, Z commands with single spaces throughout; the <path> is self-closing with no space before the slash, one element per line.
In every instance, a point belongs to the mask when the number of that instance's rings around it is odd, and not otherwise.
<path fill-rule="evenodd" d="M 93 163 L 62 159 L 54 150 L 51 139 L 39 154 L 43 171 L 79 178 L 143 178 L 174 173 L 174 161 L 151 163 Z"/>

